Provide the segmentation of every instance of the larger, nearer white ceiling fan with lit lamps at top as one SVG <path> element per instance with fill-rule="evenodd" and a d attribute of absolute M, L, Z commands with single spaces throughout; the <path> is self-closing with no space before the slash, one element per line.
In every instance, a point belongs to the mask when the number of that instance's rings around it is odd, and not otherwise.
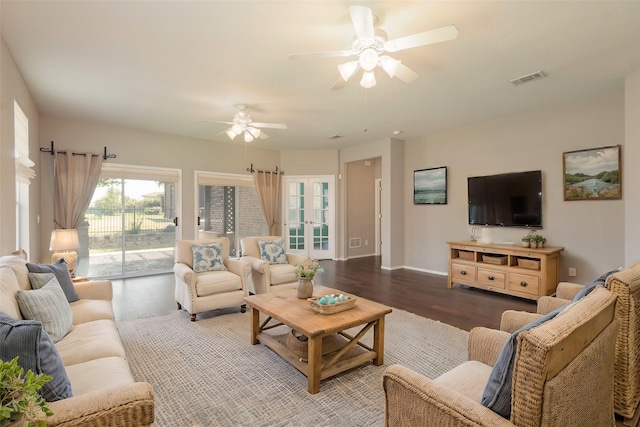
<path fill-rule="evenodd" d="M 341 89 L 353 77 L 358 70 L 364 70 L 360 85 L 371 88 L 376 85 L 374 70 L 381 67 L 389 77 L 397 77 L 405 83 L 411 83 L 418 78 L 418 73 L 403 65 L 401 61 L 388 55 L 385 52 L 397 52 L 414 47 L 425 46 L 453 40 L 458 37 L 458 29 L 455 25 L 424 31 L 410 36 L 387 40 L 386 33 L 376 29 L 374 15 L 370 8 L 366 6 L 351 6 L 349 14 L 353 27 L 356 30 L 356 38 L 351 43 L 350 50 L 337 50 L 328 52 L 296 53 L 289 55 L 289 59 L 305 58 L 330 58 L 339 56 L 357 56 L 358 59 L 338 65 L 340 79 L 331 89 Z"/>

